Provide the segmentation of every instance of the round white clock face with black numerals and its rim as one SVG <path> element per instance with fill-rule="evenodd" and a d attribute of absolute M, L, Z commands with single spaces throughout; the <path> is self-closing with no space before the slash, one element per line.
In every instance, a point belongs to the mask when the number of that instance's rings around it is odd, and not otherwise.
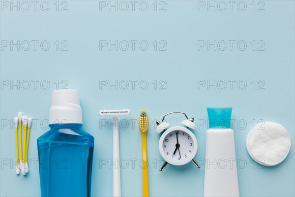
<path fill-rule="evenodd" d="M 197 153 L 197 147 L 195 135 L 183 127 L 174 127 L 165 131 L 159 142 L 162 157 L 174 165 L 190 162 Z"/>

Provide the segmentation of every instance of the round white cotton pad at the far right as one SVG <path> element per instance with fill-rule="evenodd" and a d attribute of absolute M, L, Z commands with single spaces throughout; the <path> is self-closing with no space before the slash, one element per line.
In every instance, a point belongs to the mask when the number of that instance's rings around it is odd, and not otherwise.
<path fill-rule="evenodd" d="M 280 164 L 287 157 L 291 140 L 288 131 L 280 124 L 266 121 L 255 125 L 246 139 L 252 159 L 262 165 Z"/>

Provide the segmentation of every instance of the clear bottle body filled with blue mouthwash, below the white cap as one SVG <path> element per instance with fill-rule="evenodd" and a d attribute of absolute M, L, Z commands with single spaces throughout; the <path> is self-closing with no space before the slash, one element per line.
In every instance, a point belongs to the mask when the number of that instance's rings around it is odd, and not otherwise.
<path fill-rule="evenodd" d="M 38 138 L 42 197 L 90 197 L 94 138 L 82 124 L 54 124 Z"/>

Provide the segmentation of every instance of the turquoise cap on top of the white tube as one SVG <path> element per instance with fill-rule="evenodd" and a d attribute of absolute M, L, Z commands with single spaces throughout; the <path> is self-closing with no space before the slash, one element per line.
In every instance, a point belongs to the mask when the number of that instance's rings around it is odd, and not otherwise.
<path fill-rule="evenodd" d="M 207 108 L 209 129 L 230 129 L 232 107 Z"/>

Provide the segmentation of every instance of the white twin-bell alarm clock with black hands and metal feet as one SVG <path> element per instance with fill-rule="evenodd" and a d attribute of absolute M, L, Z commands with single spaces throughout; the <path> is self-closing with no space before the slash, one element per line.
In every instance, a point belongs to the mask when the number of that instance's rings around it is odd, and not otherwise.
<path fill-rule="evenodd" d="M 165 117 L 169 114 L 183 114 L 186 119 L 181 122 L 184 126 L 169 127 L 169 123 L 165 121 Z M 193 162 L 198 168 L 200 165 L 194 160 L 197 154 L 198 142 L 192 131 L 195 130 L 194 117 L 188 119 L 183 112 L 170 112 L 165 114 L 162 121 L 156 121 L 156 131 L 162 133 L 159 140 L 159 151 L 165 163 L 160 168 L 163 171 L 169 163 L 172 165 L 184 165 Z M 190 131 L 192 130 L 192 131 Z"/>

